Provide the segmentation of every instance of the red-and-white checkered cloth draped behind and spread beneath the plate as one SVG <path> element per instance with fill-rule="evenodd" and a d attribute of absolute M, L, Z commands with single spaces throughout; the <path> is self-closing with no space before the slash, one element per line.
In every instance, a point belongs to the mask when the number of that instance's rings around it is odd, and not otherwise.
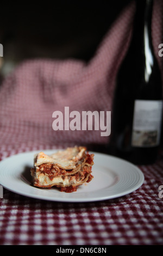
<path fill-rule="evenodd" d="M 152 31 L 160 67 L 162 10 L 162 1 L 155 1 Z M 101 131 L 54 131 L 52 113 L 64 113 L 65 106 L 80 113 L 111 111 L 115 77 L 128 48 L 134 11 L 134 2 L 122 10 L 89 63 L 27 60 L 5 78 L 0 88 L 1 160 L 23 151 L 108 143 Z M 158 188 L 163 185 L 162 167 L 160 155 L 154 165 L 140 167 L 145 182 L 138 190 L 103 202 L 47 202 L 4 189 L 0 244 L 161 245 L 163 199 Z"/>

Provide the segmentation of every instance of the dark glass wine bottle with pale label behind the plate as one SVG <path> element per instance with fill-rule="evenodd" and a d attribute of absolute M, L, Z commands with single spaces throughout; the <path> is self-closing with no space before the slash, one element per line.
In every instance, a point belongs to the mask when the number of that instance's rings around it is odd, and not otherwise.
<path fill-rule="evenodd" d="M 161 133 L 162 81 L 152 46 L 152 9 L 152 0 L 136 2 L 112 106 L 110 154 L 135 164 L 155 162 Z"/>

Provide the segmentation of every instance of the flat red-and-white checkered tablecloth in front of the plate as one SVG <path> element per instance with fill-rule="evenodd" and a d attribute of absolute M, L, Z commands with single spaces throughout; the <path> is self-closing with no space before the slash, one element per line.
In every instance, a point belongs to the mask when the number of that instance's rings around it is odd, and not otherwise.
<path fill-rule="evenodd" d="M 3 189 L 0 244 L 162 245 L 163 156 L 139 167 L 145 181 L 138 190 L 101 202 L 51 202 Z"/>

